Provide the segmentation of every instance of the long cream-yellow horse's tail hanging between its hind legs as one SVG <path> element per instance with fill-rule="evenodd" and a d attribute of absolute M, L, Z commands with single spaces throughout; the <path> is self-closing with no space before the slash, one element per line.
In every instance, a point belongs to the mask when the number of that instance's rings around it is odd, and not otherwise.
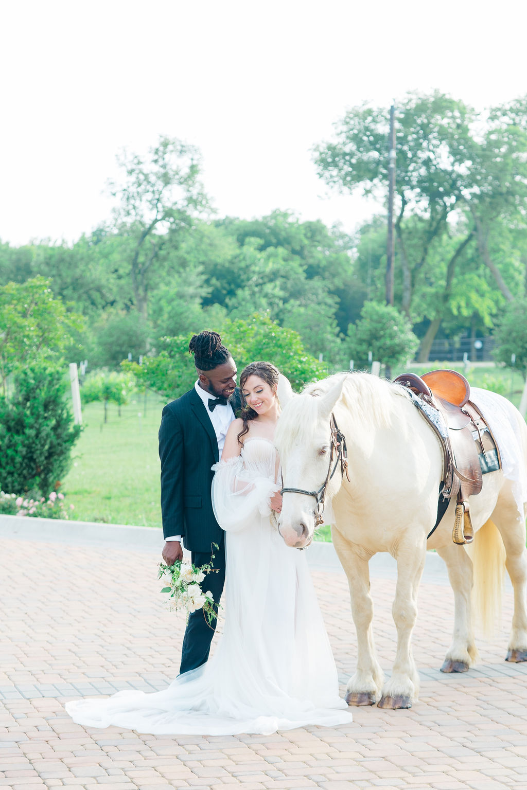
<path fill-rule="evenodd" d="M 506 554 L 502 536 L 490 518 L 477 530 L 469 554 L 474 566 L 472 607 L 475 619 L 484 635 L 492 636 L 502 611 Z"/>

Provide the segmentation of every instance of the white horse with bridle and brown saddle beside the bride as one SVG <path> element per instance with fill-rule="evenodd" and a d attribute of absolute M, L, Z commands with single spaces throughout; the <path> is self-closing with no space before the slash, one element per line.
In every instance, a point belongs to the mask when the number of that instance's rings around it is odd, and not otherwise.
<path fill-rule="evenodd" d="M 373 705 L 380 697 L 381 707 L 408 708 L 417 698 L 419 679 L 411 636 L 427 548 L 436 549 L 446 562 L 454 589 L 454 637 L 442 671 L 465 672 L 477 657 L 472 632 L 472 566 L 474 576 L 484 579 L 487 598 L 493 598 L 501 591 L 499 574 L 503 574 L 505 559 L 514 587 L 506 660 L 527 660 L 527 427 L 505 398 L 472 389 L 471 400 L 478 404 L 478 397 L 486 399 L 501 416 L 501 422 L 506 423 L 502 435 L 516 444 L 501 446 L 499 442 L 503 471 L 484 475 L 482 491 L 470 500 L 472 525 L 479 530 L 471 546 L 473 562 L 465 547 L 452 541 L 455 501 L 450 502 L 427 540 L 437 518 L 442 451 L 405 389 L 370 374 L 337 374 L 307 386 L 284 406 L 275 442 L 283 486 L 297 490 L 284 491 L 278 520 L 280 534 L 289 546 L 303 548 L 313 539 L 317 503 L 312 493 L 323 486 L 329 466 L 333 469 L 334 465 L 334 460 L 329 460 L 332 413 L 347 441 L 349 482 L 337 467 L 327 488 L 326 502 L 330 501 L 333 513 L 326 513 L 326 521 L 331 519 L 333 544 L 348 577 L 356 626 L 358 659 L 347 687 L 349 705 Z M 397 653 L 387 683 L 375 657 L 371 627 L 368 561 L 378 551 L 388 551 L 397 560 L 392 609 Z M 488 623 L 493 617 L 491 608 L 483 615 Z"/>

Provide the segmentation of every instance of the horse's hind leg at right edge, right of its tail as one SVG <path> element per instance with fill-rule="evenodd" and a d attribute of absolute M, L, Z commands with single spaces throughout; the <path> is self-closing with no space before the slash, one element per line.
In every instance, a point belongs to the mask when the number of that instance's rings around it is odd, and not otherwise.
<path fill-rule="evenodd" d="M 510 487 L 509 483 L 506 483 Z M 525 517 L 509 491 L 500 495 L 491 520 L 498 527 L 506 551 L 505 566 L 514 589 L 514 614 L 506 661 L 527 661 L 527 549 Z"/>

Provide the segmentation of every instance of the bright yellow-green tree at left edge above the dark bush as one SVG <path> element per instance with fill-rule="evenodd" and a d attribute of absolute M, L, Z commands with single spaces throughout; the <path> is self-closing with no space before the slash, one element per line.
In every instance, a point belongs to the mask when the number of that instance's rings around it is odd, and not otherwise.
<path fill-rule="evenodd" d="M 81 329 L 81 316 L 55 299 L 49 280 L 32 277 L 0 287 L 0 381 L 36 359 L 56 357 Z"/>

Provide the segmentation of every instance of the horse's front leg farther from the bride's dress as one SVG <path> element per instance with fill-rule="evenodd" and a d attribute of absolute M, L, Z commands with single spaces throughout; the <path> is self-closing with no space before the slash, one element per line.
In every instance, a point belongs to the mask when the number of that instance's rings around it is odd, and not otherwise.
<path fill-rule="evenodd" d="M 424 533 L 407 533 L 397 548 L 397 586 L 392 606 L 397 627 L 397 653 L 392 676 L 382 689 L 379 708 L 411 708 L 419 694 L 419 675 L 412 656 L 411 639 L 426 554 Z"/>

